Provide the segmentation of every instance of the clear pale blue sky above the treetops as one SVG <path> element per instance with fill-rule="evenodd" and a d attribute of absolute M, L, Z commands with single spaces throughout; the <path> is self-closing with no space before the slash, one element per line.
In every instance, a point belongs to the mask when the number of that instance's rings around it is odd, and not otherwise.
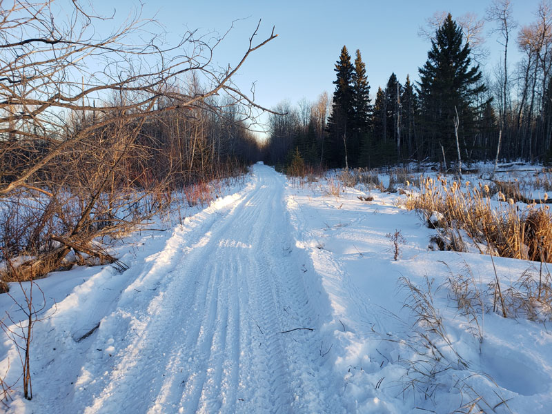
<path fill-rule="evenodd" d="M 535 20 L 540 0 L 512 0 L 514 19 L 519 26 Z M 335 80 L 335 61 L 341 48 L 347 46 L 354 59 L 359 49 L 366 63 L 366 74 L 374 99 L 378 86 L 384 86 L 395 72 L 404 83 L 406 75 L 415 81 L 427 59 L 428 40 L 418 35 L 420 27 L 435 12 L 451 12 L 453 18 L 467 12 L 484 17 L 490 0 L 366 0 L 346 1 L 145 1 L 142 17 L 155 19 L 164 26 L 167 39 L 177 39 L 186 29 L 199 32 L 216 30 L 224 33 L 233 21 L 223 43 L 215 50 L 213 60 L 220 66 L 235 65 L 248 47 L 248 39 L 261 20 L 257 39 L 266 39 L 275 27 L 278 37 L 255 51 L 235 78 L 242 90 L 255 82 L 255 101 L 267 108 L 288 100 L 297 103 L 317 99 L 327 91 L 331 96 Z M 95 0 L 97 12 L 110 14 L 114 9 L 125 17 L 135 0 Z M 491 72 L 502 59 L 503 47 L 497 34 L 491 34 L 494 23 L 486 23 L 486 48 L 491 52 L 482 61 L 484 71 Z M 515 37 L 514 37 L 515 39 Z M 520 59 L 511 43 L 510 70 Z"/>

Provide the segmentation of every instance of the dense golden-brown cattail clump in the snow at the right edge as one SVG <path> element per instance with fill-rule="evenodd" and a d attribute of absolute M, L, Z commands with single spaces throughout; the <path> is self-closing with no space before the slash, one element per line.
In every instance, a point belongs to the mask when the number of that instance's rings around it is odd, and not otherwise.
<path fill-rule="evenodd" d="M 434 212 L 439 213 L 445 244 L 462 229 L 478 248 L 486 245 L 501 257 L 538 262 L 552 259 L 552 219 L 548 206 L 533 202 L 520 208 L 512 198 L 491 206 L 488 186 L 459 182 L 449 184 L 444 178 L 426 178 L 420 194 L 408 197 L 406 207 L 422 212 L 426 220 Z M 506 201 L 504 193 L 498 195 Z M 480 251 L 486 253 L 482 248 Z"/>

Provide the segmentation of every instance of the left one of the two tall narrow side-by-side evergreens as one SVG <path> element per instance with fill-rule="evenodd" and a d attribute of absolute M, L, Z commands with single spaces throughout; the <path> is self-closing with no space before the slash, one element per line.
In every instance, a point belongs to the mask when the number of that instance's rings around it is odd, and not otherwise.
<path fill-rule="evenodd" d="M 327 144 L 324 146 L 326 161 L 330 167 L 339 167 L 345 164 L 348 135 L 355 131 L 355 110 L 353 106 L 353 65 L 351 56 L 346 46 L 343 46 L 339 60 L 335 63 L 337 79 L 333 81 L 335 91 L 333 92 L 332 112 L 328 119 Z M 349 155 L 349 154 L 347 154 Z"/>

